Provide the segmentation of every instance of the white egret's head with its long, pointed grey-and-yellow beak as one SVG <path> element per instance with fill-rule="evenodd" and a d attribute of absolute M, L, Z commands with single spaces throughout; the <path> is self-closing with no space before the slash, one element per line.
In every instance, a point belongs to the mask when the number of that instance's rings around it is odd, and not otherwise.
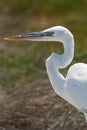
<path fill-rule="evenodd" d="M 72 35 L 70 31 L 61 26 L 55 26 L 40 32 L 32 32 L 4 38 L 8 41 L 60 41 L 65 40 L 65 35 Z M 68 38 L 68 37 L 67 37 Z"/>

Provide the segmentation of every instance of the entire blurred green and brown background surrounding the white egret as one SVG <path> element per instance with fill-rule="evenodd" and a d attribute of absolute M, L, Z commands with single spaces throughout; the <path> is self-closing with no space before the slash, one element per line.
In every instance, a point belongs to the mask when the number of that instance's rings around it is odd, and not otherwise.
<path fill-rule="evenodd" d="M 87 0 L 0 0 L 0 37 L 56 25 L 75 39 L 74 59 L 60 70 L 65 76 L 72 64 L 87 63 Z M 62 54 L 62 44 L 0 41 L 0 129 L 87 130 L 83 115 L 52 89 L 45 67 L 52 52 Z"/>

